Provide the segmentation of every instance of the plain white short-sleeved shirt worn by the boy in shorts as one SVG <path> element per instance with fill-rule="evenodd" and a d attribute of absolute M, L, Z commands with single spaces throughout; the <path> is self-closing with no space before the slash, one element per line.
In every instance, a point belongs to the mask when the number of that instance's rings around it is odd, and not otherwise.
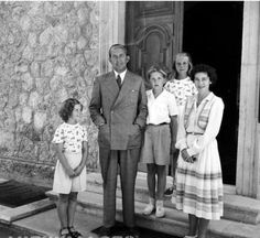
<path fill-rule="evenodd" d="M 147 91 L 148 118 L 147 123 L 160 125 L 170 123 L 171 116 L 177 116 L 178 109 L 173 94 L 163 90 L 156 98 L 152 89 Z"/>

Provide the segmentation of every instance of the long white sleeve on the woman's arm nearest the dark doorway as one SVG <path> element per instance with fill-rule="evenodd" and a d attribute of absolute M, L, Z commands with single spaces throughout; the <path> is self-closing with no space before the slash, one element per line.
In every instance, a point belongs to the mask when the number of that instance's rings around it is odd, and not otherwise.
<path fill-rule="evenodd" d="M 187 153 L 192 156 L 198 154 L 204 150 L 215 138 L 217 137 L 221 120 L 223 120 L 224 102 L 221 98 L 216 98 L 213 104 L 207 128 L 203 136 L 198 137 L 191 148 L 187 149 Z"/>

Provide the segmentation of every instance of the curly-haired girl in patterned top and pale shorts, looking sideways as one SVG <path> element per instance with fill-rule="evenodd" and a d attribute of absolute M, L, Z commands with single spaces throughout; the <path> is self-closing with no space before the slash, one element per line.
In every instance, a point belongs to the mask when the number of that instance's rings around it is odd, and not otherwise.
<path fill-rule="evenodd" d="M 74 228 L 77 194 L 86 190 L 87 130 L 79 125 L 82 104 L 74 98 L 64 101 L 58 111 L 63 123 L 55 131 L 56 163 L 53 191 L 58 193 L 57 214 L 61 221 L 59 237 L 77 238 Z"/>

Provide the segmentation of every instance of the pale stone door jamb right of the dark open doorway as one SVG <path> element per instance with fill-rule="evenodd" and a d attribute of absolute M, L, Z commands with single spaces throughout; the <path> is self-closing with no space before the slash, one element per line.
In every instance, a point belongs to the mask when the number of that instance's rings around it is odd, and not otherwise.
<path fill-rule="evenodd" d="M 260 2 L 243 2 L 236 192 L 260 199 Z"/>

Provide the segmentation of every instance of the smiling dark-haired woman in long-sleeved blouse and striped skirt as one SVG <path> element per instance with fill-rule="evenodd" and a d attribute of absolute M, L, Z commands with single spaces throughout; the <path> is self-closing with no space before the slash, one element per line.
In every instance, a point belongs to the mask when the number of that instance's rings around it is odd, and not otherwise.
<path fill-rule="evenodd" d="M 209 89 L 217 79 L 213 67 L 195 66 L 192 79 L 198 94 L 187 99 L 178 126 L 176 208 L 188 214 L 189 229 L 185 238 L 205 238 L 209 220 L 223 216 L 221 165 L 216 137 L 224 102 Z"/>

